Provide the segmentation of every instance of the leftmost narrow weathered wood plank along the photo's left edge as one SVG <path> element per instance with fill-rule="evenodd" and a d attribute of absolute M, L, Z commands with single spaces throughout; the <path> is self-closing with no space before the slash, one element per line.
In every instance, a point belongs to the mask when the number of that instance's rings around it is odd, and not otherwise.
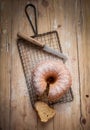
<path fill-rule="evenodd" d="M 11 2 L 0 1 L 0 130 L 9 130 L 11 76 Z"/>

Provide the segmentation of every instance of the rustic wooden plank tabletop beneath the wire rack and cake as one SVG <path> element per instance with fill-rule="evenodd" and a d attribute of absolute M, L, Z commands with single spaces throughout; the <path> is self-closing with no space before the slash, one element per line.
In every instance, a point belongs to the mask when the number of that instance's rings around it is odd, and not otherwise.
<path fill-rule="evenodd" d="M 73 78 L 74 100 L 57 104 L 40 123 L 33 110 L 17 49 L 17 32 L 33 35 L 24 13 L 38 10 L 39 33 L 57 30 Z M 90 130 L 90 0 L 0 1 L 0 130 Z"/>

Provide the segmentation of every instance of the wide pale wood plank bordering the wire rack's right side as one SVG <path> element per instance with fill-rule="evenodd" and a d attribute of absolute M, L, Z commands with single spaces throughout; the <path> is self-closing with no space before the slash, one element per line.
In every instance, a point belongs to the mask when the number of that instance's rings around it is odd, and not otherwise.
<path fill-rule="evenodd" d="M 75 3 L 74 0 L 54 1 L 53 26 L 57 29 L 63 52 L 68 56 L 66 66 L 72 74 L 73 102 L 55 105 L 57 114 L 54 118 L 56 130 L 80 130 L 80 95 L 77 60 L 77 41 L 75 31 Z"/>

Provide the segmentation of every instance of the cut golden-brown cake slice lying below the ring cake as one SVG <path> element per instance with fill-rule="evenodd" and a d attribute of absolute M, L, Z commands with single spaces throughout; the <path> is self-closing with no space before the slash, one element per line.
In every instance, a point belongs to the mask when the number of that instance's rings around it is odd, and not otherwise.
<path fill-rule="evenodd" d="M 55 110 L 49 107 L 46 103 L 37 101 L 35 103 L 35 109 L 41 122 L 47 122 L 49 119 L 53 118 L 56 114 Z"/>

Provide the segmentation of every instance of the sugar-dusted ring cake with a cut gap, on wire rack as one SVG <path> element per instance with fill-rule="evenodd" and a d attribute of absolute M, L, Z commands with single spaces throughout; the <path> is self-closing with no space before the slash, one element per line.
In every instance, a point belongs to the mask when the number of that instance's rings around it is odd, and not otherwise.
<path fill-rule="evenodd" d="M 42 61 L 34 69 L 32 79 L 38 96 L 45 92 L 49 83 L 49 101 L 58 100 L 72 84 L 70 72 L 61 60 Z"/>

